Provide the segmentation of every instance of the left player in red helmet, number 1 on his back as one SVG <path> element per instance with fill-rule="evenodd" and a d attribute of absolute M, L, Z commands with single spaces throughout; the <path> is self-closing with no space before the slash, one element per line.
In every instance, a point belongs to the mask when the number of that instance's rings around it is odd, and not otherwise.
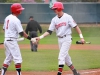
<path fill-rule="evenodd" d="M 4 21 L 4 32 L 5 32 L 5 54 L 6 58 L 3 63 L 1 75 L 5 75 L 7 68 L 9 67 L 11 61 L 15 63 L 15 68 L 17 75 L 21 75 L 21 63 L 22 56 L 20 53 L 20 48 L 17 43 L 18 35 L 31 40 L 31 38 L 23 31 L 20 20 L 17 18 L 21 14 L 24 8 L 20 3 L 14 3 L 11 5 L 11 13 L 5 18 Z"/>

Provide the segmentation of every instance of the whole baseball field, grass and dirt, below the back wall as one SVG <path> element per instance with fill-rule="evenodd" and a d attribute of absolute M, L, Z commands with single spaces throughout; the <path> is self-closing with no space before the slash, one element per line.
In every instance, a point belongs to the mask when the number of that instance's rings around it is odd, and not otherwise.
<path fill-rule="evenodd" d="M 0 25 L 0 42 L 4 40 L 4 32 Z M 49 25 L 41 24 L 43 33 Z M 26 25 L 23 25 L 25 29 Z M 76 44 L 79 35 L 72 29 L 72 46 L 69 54 L 73 64 L 81 75 L 100 75 L 100 25 L 85 24 L 79 25 L 86 42 L 91 44 Z M 41 35 L 41 34 L 39 34 Z M 43 38 L 39 42 L 38 52 L 31 52 L 30 42 L 25 39 L 18 42 L 23 58 L 22 75 L 56 75 L 58 70 L 58 42 L 55 32 Z M 4 46 L 0 45 L 0 67 L 5 58 Z M 8 68 L 6 75 L 16 75 L 14 62 Z M 65 66 L 62 75 L 72 75 L 71 70 Z"/>

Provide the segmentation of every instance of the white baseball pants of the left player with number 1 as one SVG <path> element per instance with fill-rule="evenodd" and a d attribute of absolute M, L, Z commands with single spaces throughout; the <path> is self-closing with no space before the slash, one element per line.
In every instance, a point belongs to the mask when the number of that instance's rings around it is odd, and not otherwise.
<path fill-rule="evenodd" d="M 11 61 L 13 60 L 15 64 L 22 63 L 22 56 L 20 53 L 20 48 L 17 43 L 17 40 L 12 39 L 13 41 L 7 41 L 5 39 L 4 46 L 5 46 L 5 54 L 6 58 L 4 60 L 4 64 L 10 65 Z"/>

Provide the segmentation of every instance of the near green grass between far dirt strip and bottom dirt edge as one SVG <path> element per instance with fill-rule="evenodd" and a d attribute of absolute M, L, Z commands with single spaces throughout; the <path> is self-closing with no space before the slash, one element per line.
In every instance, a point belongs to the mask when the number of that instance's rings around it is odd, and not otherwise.
<path fill-rule="evenodd" d="M 57 71 L 58 69 L 58 52 L 59 50 L 21 50 L 23 71 Z M 0 66 L 5 58 L 4 50 L 0 50 Z M 100 68 L 100 51 L 99 50 L 70 50 L 74 66 L 78 70 Z M 12 62 L 8 70 L 15 70 Z M 67 66 L 64 70 L 69 70 Z"/>

